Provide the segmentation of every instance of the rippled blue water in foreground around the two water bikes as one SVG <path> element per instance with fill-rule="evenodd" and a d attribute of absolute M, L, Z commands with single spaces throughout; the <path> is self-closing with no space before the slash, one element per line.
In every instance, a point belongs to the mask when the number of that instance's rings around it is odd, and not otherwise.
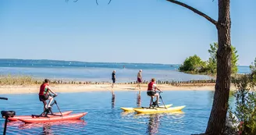
<path fill-rule="evenodd" d="M 183 113 L 160 113 L 137 115 L 124 113 L 120 107 L 148 106 L 149 98 L 141 91 L 109 91 L 84 93 L 60 93 L 56 99 L 62 112 L 88 112 L 81 120 L 62 123 L 23 124 L 9 123 L 7 134 L 172 134 L 188 135 L 204 133 L 212 109 L 214 91 L 164 91 L 165 104 L 187 105 Z M 0 100 L 0 110 L 13 110 L 16 115 L 31 115 L 42 112 L 42 103 L 37 94 L 5 94 Z M 233 97 L 230 98 L 233 104 Z M 58 109 L 55 108 L 55 112 Z M 0 124 L 4 127 L 4 119 Z M 0 130 L 2 132 L 3 129 Z"/>

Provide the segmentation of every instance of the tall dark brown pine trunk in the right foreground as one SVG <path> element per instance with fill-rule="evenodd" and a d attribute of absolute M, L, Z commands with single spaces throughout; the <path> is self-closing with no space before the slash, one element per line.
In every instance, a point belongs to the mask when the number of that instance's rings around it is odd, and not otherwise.
<path fill-rule="evenodd" d="M 222 134 L 226 123 L 231 80 L 231 20 L 229 5 L 230 0 L 219 0 L 219 20 L 216 26 L 219 43 L 217 51 L 217 78 L 212 112 L 205 131 L 209 135 Z"/>

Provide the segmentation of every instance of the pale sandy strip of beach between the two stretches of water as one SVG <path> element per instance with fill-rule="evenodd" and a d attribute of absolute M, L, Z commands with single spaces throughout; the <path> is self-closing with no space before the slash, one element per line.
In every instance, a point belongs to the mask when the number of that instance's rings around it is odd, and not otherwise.
<path fill-rule="evenodd" d="M 2 85 L 0 94 L 37 94 L 41 84 L 23 84 L 23 85 Z M 52 90 L 56 93 L 76 93 L 92 91 L 147 91 L 148 84 L 141 84 L 140 90 L 137 84 L 115 84 L 114 88 L 111 83 L 104 84 L 50 84 Z M 179 86 L 170 84 L 158 84 L 162 91 L 215 91 L 215 83 L 183 83 Z M 231 83 L 230 91 L 236 88 Z"/>

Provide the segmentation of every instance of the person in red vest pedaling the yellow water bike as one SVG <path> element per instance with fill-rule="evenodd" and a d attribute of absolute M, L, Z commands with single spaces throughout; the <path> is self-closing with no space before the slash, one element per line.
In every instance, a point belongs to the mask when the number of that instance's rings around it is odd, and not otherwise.
<path fill-rule="evenodd" d="M 151 82 L 148 83 L 148 91 L 147 91 L 148 96 L 151 97 L 149 106 L 152 105 L 152 101 L 153 101 L 153 98 L 154 98 L 154 97 L 156 97 L 156 104 L 157 104 L 157 106 L 158 106 L 158 103 L 159 103 L 159 102 L 158 102 L 158 101 L 159 101 L 159 94 L 156 92 L 156 90 L 162 92 L 162 91 L 157 87 L 157 85 L 156 85 L 156 83 L 155 83 L 155 78 L 152 78 L 152 79 L 151 79 Z"/>

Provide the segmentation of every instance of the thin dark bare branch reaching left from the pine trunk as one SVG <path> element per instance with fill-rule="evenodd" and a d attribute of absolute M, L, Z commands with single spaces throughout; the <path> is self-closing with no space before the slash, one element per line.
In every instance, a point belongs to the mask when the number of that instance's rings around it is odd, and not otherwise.
<path fill-rule="evenodd" d="M 201 12 L 201 11 L 199 11 L 199 10 L 197 10 L 197 9 L 194 9 L 194 8 L 193 8 L 192 6 L 190 6 L 190 5 L 187 5 L 187 4 L 183 3 L 183 2 L 178 2 L 178 1 L 176 1 L 176 0 L 166 0 L 166 1 L 175 3 L 175 4 L 177 4 L 177 5 L 181 5 L 181 6 L 185 7 L 185 8 L 187 8 L 187 9 L 190 9 L 191 11 L 197 13 L 197 14 L 200 15 L 200 16 L 203 16 L 206 20 L 210 21 L 210 22 L 213 23 L 215 26 L 217 26 L 217 23 L 218 23 L 217 21 L 213 20 L 210 16 L 205 15 L 203 12 Z"/>

